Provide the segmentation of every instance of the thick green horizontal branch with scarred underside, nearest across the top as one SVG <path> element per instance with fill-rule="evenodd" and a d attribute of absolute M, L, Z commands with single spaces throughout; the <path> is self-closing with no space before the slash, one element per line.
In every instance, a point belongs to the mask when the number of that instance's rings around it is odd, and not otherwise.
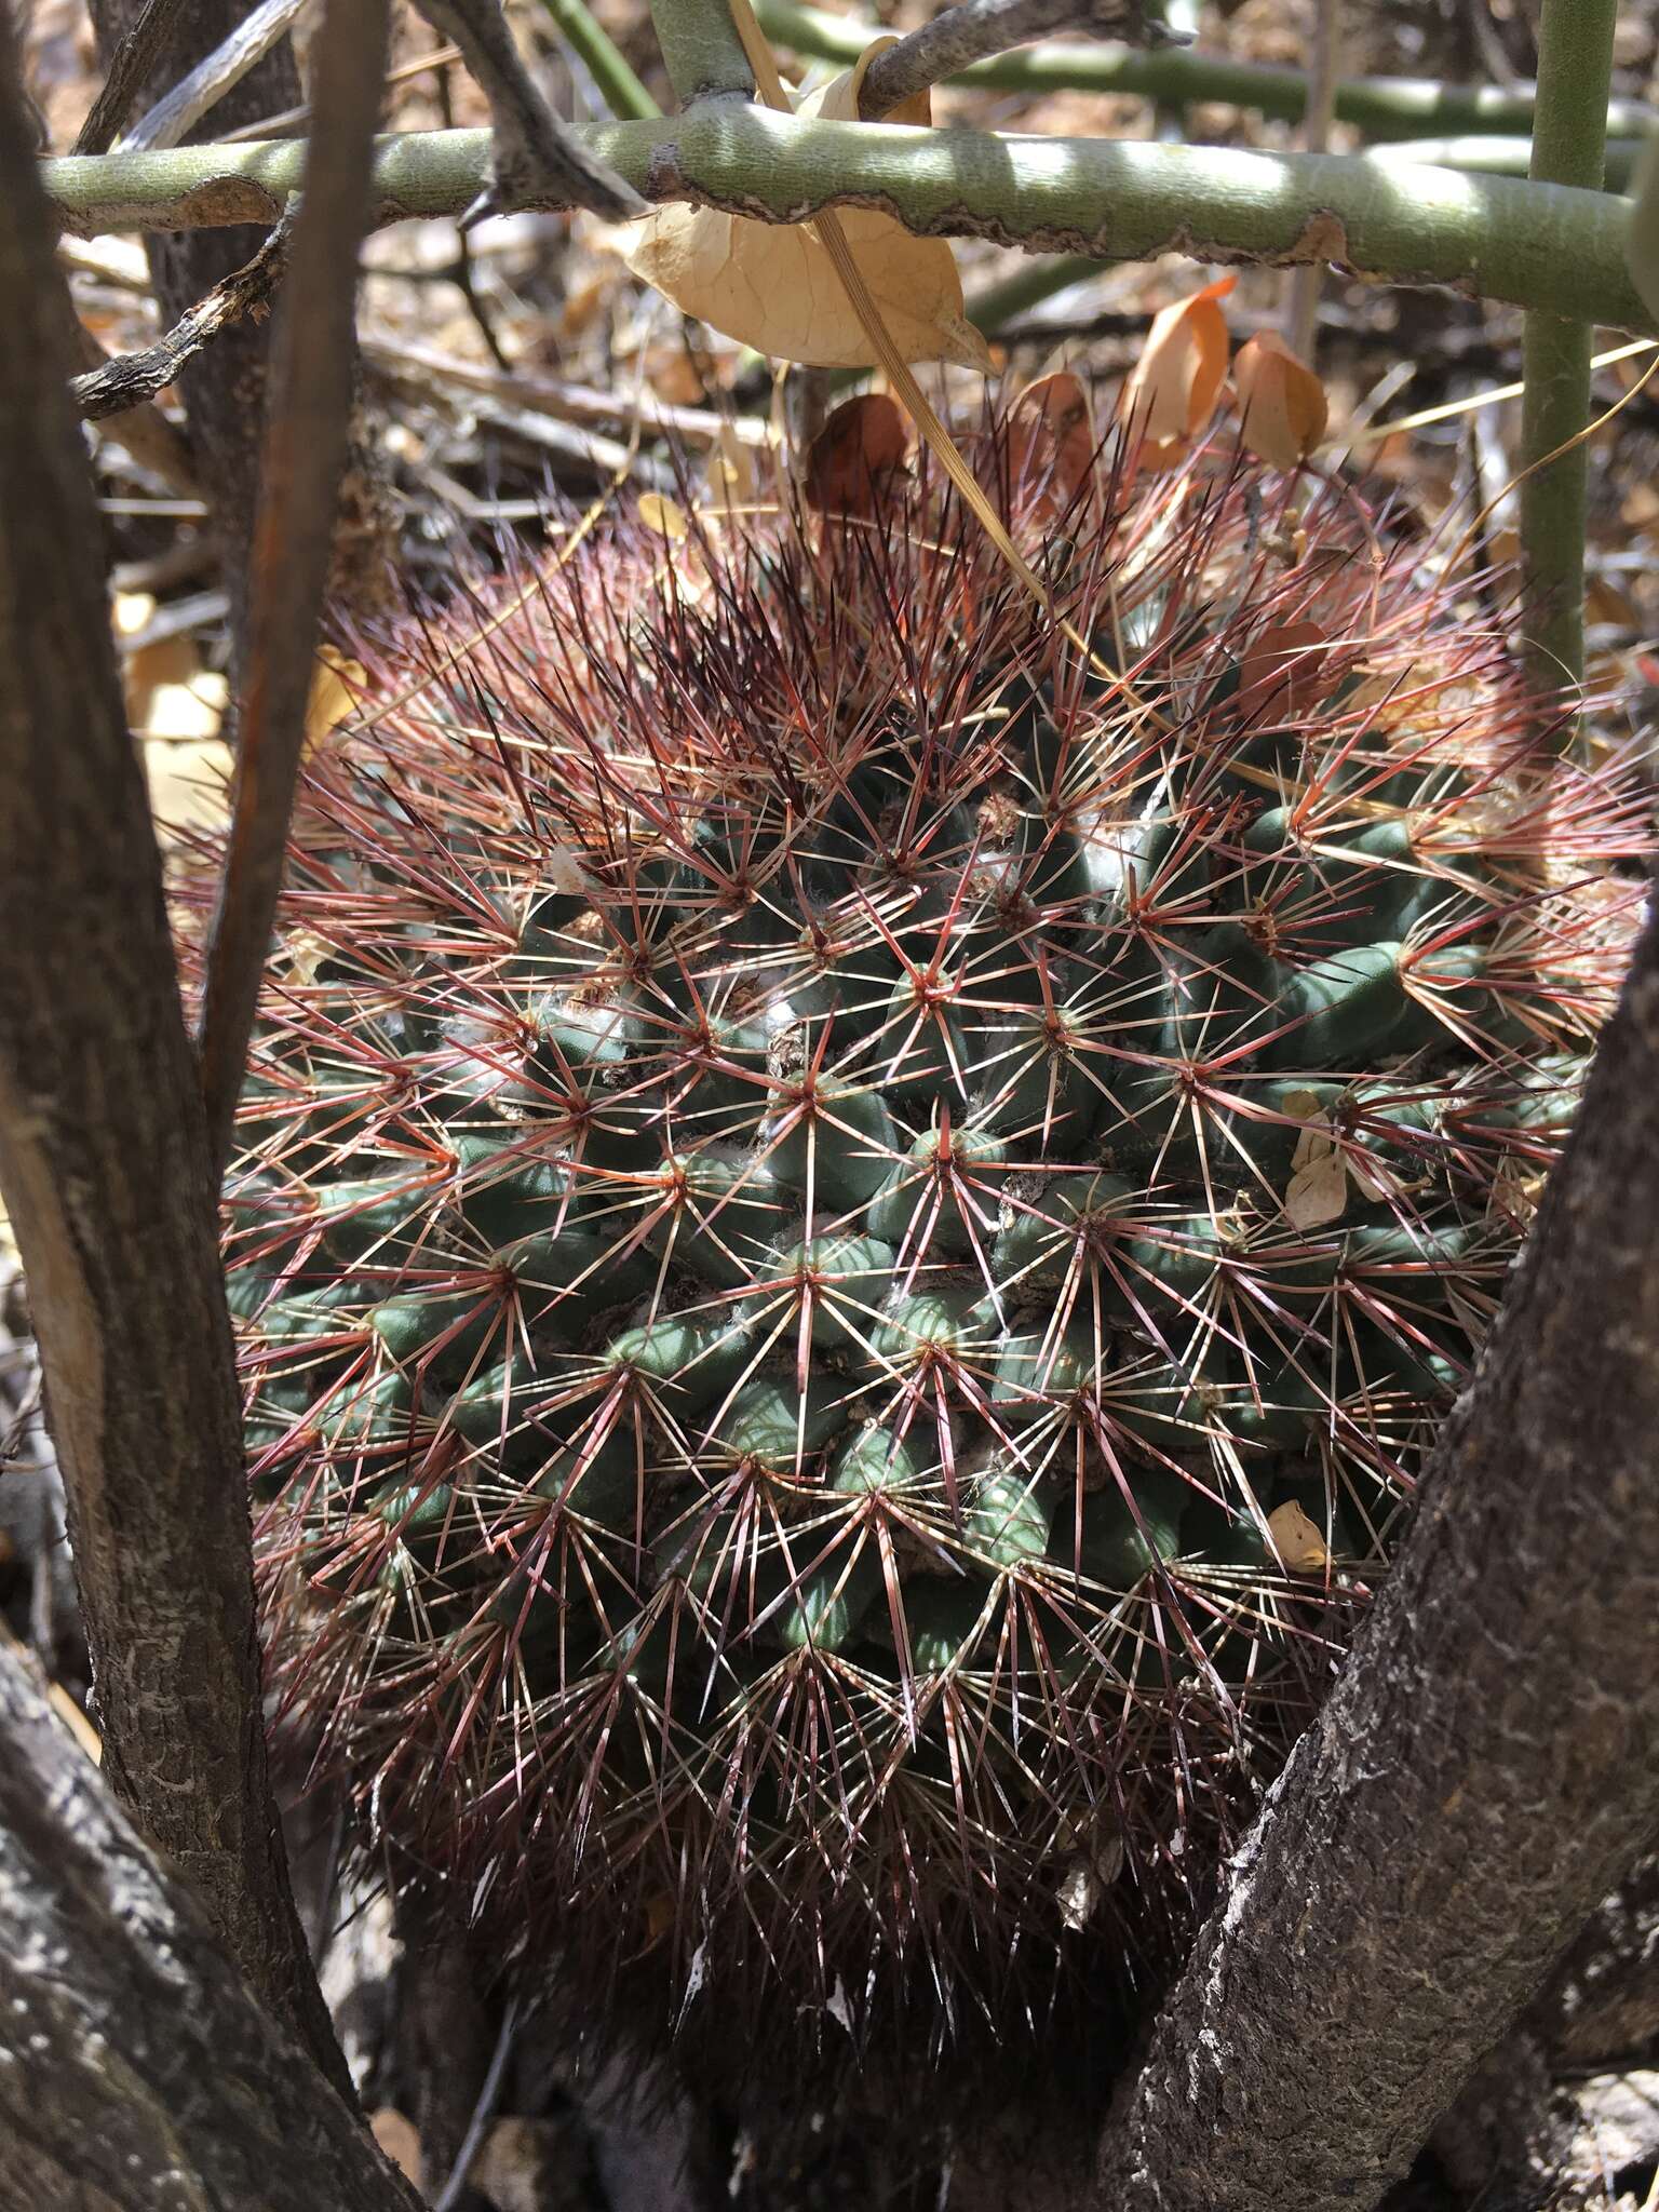
<path fill-rule="evenodd" d="M 1590 190 L 1354 155 L 799 122 L 745 102 L 584 137 L 650 199 L 761 221 L 858 204 L 925 234 L 1097 261 L 1336 261 L 1374 283 L 1449 285 L 1644 336 L 1659 330 L 1624 263 L 1628 204 Z M 378 219 L 458 212 L 487 148 L 482 131 L 383 139 Z M 188 230 L 270 221 L 303 159 L 292 142 L 179 146 L 46 161 L 44 181 L 73 230 Z"/>

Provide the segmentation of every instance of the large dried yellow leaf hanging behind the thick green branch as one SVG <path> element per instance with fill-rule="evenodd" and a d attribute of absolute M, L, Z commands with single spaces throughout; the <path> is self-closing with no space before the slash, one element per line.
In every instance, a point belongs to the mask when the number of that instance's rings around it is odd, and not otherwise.
<path fill-rule="evenodd" d="M 891 38 L 878 38 L 799 113 L 858 122 L 865 69 Z M 927 124 L 925 100 L 885 117 Z M 962 314 L 962 279 L 945 239 L 914 239 L 889 215 L 843 208 L 841 228 L 902 361 L 956 361 L 991 374 L 991 354 Z M 869 369 L 876 352 L 847 299 L 830 252 L 810 223 L 761 223 L 748 215 L 675 204 L 633 226 L 624 259 L 686 314 L 779 361 L 821 369 Z"/>

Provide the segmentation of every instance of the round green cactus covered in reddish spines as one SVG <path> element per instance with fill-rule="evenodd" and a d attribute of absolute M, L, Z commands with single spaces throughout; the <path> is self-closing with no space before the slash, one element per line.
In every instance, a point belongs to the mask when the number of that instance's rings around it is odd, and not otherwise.
<path fill-rule="evenodd" d="M 920 469 L 602 524 L 310 763 L 228 1212 L 270 1679 L 522 1975 L 927 2051 L 1157 1949 L 1571 1119 L 1635 783 L 1352 489 L 1115 451 L 1004 482 L 1073 639 Z"/>

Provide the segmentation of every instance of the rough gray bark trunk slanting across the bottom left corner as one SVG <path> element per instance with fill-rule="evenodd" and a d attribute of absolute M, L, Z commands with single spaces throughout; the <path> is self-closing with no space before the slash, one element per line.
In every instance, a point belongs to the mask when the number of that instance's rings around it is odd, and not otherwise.
<path fill-rule="evenodd" d="M 0 1648 L 0 2212 L 416 2212 Z"/>

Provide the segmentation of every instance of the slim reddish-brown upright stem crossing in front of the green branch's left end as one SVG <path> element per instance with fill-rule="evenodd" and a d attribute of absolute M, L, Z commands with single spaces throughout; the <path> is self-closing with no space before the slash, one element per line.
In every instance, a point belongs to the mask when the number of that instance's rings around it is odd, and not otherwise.
<path fill-rule="evenodd" d="M 369 219 L 385 49 L 387 0 L 330 0 L 316 40 L 305 197 L 272 347 L 241 750 L 201 1004 L 201 1088 L 219 1172 L 230 1155 L 305 739 L 352 416 L 358 246 Z"/>

